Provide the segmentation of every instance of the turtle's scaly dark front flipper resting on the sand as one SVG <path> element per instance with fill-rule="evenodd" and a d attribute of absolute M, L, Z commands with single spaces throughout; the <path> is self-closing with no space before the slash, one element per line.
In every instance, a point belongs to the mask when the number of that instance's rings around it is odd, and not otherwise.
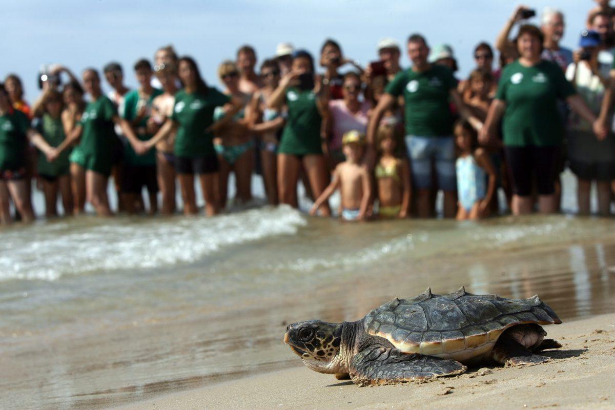
<path fill-rule="evenodd" d="M 416 379 L 451 376 L 464 373 L 466 366 L 458 361 L 418 353 L 403 353 L 399 349 L 370 346 L 352 358 L 350 375 L 359 385 L 397 384 Z"/>

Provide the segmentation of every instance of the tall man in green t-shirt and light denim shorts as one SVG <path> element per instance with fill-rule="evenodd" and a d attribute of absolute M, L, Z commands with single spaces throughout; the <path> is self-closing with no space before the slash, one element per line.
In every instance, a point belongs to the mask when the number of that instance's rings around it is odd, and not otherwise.
<path fill-rule="evenodd" d="M 423 36 L 413 34 L 408 38 L 408 57 L 412 61 L 412 67 L 397 74 L 378 101 L 367 128 L 367 138 L 371 146 L 369 162 L 373 162 L 376 130 L 384 111 L 391 107 L 395 98 L 403 95 L 406 144 L 417 189 L 418 216 L 428 218 L 431 215 L 433 160 L 438 187 L 444 191 L 444 216 L 453 218 L 457 205 L 455 195 L 457 182 L 450 99 L 472 127 L 480 129 L 482 122 L 471 116 L 462 102 L 450 69 L 432 65 L 427 61 L 428 55 L 429 47 Z"/>

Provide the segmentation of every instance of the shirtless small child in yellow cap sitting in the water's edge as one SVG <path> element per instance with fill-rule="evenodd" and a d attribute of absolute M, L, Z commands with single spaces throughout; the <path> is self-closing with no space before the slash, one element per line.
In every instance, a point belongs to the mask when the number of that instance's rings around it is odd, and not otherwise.
<path fill-rule="evenodd" d="M 344 221 L 361 221 L 365 219 L 371 195 L 370 176 L 365 165 L 362 165 L 365 135 L 356 130 L 345 133 L 342 137 L 342 151 L 346 160 L 335 167 L 333 181 L 314 202 L 310 215 L 315 215 L 320 205 L 339 187 L 341 218 Z"/>

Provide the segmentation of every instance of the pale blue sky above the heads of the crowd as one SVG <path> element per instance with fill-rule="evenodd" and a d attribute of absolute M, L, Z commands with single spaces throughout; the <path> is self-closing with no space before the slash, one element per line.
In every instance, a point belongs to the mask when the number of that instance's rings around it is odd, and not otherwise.
<path fill-rule="evenodd" d="M 132 65 L 153 59 L 162 45 L 173 44 L 180 56 L 199 63 L 205 81 L 221 87 L 216 68 L 234 59 L 244 44 L 255 47 L 259 61 L 274 55 L 276 44 L 318 53 L 322 42 L 338 41 L 344 55 L 363 66 L 376 60 L 376 43 L 394 37 L 402 43 L 422 33 L 430 45 L 453 46 L 458 77 L 473 66 L 472 52 L 480 41 L 493 44 L 517 2 L 509 0 L 18 0 L 2 5 L 0 78 L 17 73 L 26 100 L 38 96 L 42 64 L 60 63 L 81 73 L 101 69 L 109 61 L 124 66 L 125 83 L 137 84 Z M 527 1 L 537 10 L 558 7 L 566 16 L 561 44 L 577 45 L 591 0 Z M 538 24 L 538 18 L 531 22 Z M 405 53 L 402 66 L 409 66 Z M 106 84 L 105 84 L 106 86 Z"/>

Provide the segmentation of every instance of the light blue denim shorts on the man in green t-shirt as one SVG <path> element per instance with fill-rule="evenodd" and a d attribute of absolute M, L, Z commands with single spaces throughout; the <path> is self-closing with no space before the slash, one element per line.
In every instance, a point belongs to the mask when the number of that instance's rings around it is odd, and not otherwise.
<path fill-rule="evenodd" d="M 435 168 L 438 189 L 455 191 L 455 143 L 453 136 L 407 135 L 406 146 L 412 169 L 412 180 L 418 189 L 432 187 Z M 434 167 L 432 167 L 432 162 Z"/>

